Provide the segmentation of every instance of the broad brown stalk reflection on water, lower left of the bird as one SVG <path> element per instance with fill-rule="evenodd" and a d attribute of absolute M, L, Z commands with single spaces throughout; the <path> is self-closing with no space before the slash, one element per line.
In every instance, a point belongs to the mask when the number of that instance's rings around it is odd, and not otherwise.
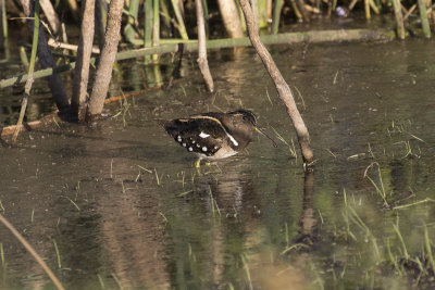
<path fill-rule="evenodd" d="M 98 207 L 101 242 L 110 270 L 124 288 L 167 288 L 164 224 L 158 197 L 146 192 L 120 198 L 115 194 L 119 192 L 111 190 Z"/>

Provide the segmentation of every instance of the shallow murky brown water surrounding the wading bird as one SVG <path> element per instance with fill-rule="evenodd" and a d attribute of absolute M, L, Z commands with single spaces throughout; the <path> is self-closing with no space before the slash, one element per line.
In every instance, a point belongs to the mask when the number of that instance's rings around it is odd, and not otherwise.
<path fill-rule="evenodd" d="M 16 148 L 3 141 L 2 214 L 69 289 L 434 287 L 432 42 L 271 52 L 310 130 L 313 173 L 290 154 L 294 129 L 254 51 L 222 50 L 209 55 L 213 96 L 191 56 L 171 90 L 110 106 L 96 128 L 51 125 Z M 198 173 L 152 122 L 238 108 L 289 146 L 256 135 Z M 52 288 L 3 227 L 0 242 L 0 288 Z M 409 266 L 418 261 L 428 273 Z"/>

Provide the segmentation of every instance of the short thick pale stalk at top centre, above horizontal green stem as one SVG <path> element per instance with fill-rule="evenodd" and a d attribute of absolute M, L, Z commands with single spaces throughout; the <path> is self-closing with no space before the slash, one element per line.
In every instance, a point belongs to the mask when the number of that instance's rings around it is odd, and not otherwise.
<path fill-rule="evenodd" d="M 217 0 L 219 10 L 221 11 L 222 18 L 226 33 L 231 38 L 244 37 L 241 29 L 240 16 L 238 14 L 237 5 L 234 0 Z"/>

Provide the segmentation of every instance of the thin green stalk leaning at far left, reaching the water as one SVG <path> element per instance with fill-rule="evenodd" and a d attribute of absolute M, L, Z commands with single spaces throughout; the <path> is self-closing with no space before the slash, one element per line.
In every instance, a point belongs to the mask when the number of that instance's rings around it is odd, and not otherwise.
<path fill-rule="evenodd" d="M 30 94 L 32 85 L 34 83 L 35 61 L 36 61 L 36 52 L 38 50 L 38 36 L 39 36 L 39 1 L 38 0 L 35 1 L 34 13 L 35 13 L 34 37 L 32 39 L 30 63 L 28 65 L 26 85 L 24 86 L 24 94 L 23 94 L 23 100 L 21 102 L 21 111 L 20 111 L 18 122 L 16 123 L 16 128 L 12 136 L 12 143 L 15 143 L 16 138 L 18 138 L 21 125 L 23 124 L 24 115 L 26 113 L 28 96 Z"/>

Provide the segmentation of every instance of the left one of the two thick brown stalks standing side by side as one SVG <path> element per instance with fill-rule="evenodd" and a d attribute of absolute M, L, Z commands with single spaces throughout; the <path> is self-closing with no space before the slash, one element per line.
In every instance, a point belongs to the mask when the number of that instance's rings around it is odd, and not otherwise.
<path fill-rule="evenodd" d="M 73 94 L 71 98 L 71 114 L 77 121 L 83 121 L 85 117 L 89 64 L 95 34 L 95 1 L 82 0 L 82 28 L 74 68 Z"/>

